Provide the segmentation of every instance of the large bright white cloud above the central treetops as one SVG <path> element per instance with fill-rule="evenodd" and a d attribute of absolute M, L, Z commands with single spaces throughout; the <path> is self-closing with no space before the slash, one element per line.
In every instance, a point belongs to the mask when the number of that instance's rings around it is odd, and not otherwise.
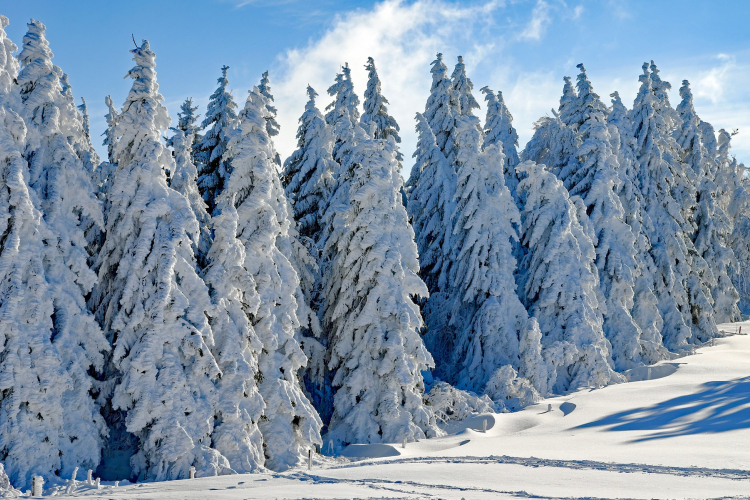
<path fill-rule="evenodd" d="M 478 32 L 491 22 L 501 2 L 461 6 L 439 0 L 405 3 L 387 0 L 370 10 L 356 10 L 337 16 L 332 26 L 307 46 L 289 50 L 279 57 L 271 78 L 281 134 L 276 146 L 282 157 L 296 146 L 297 119 L 307 99 L 310 84 L 319 94 L 318 106 L 331 102 L 326 90 L 341 66 L 352 68 L 355 91 L 360 98 L 366 83 L 364 69 L 368 57 L 375 59 L 389 111 L 401 126 L 404 156 L 410 158 L 416 145 L 414 114 L 422 111 L 429 95 L 430 62 L 437 52 L 445 54 L 449 70 L 455 58 L 466 58 L 468 71 L 486 63 L 497 50 L 497 43 L 479 45 L 485 37 Z M 495 40 L 497 42 L 497 40 Z M 478 90 L 481 86 L 477 85 Z M 405 167 L 411 168 L 407 160 Z"/>

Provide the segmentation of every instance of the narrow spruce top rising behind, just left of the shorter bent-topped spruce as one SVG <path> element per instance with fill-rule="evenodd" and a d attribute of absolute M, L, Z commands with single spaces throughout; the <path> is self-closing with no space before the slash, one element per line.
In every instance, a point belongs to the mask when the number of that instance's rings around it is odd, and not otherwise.
<path fill-rule="evenodd" d="M 502 148 L 503 173 L 505 174 L 505 185 L 508 186 L 510 194 L 516 199 L 516 188 L 518 187 L 518 174 L 516 165 L 521 160 L 518 158 L 518 133 L 513 127 L 513 115 L 503 100 L 503 93 L 495 94 L 489 87 L 483 87 L 481 92 L 487 101 L 487 116 L 484 121 L 484 148 L 497 144 Z"/>

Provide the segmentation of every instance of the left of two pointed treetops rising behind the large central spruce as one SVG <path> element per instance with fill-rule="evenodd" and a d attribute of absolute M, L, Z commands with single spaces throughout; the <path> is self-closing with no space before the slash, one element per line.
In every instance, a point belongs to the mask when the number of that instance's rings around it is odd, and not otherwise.
<path fill-rule="evenodd" d="M 326 123 L 333 133 L 333 159 L 341 165 L 356 144 L 355 129 L 359 126 L 359 97 L 354 93 L 349 64 L 344 64 L 336 75 L 336 83 L 328 87 L 328 95 L 334 101 L 326 106 Z"/>

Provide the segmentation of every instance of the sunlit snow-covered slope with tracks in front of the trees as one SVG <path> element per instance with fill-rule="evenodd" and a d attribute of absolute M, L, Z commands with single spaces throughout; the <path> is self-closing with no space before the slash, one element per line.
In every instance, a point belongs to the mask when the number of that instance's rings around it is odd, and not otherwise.
<path fill-rule="evenodd" d="M 347 454 L 364 459 L 322 463 L 316 457 L 311 471 L 283 474 L 102 484 L 99 490 L 79 482 L 73 496 L 750 498 L 750 322 L 720 329 L 734 333 L 740 325 L 743 335 L 638 370 L 629 383 L 474 417 L 447 437 L 406 449 L 360 446 Z"/>

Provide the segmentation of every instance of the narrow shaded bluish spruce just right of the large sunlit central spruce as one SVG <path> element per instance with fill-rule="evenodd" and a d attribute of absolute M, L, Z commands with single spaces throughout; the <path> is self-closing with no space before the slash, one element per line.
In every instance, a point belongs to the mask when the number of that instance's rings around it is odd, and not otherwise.
<path fill-rule="evenodd" d="M 409 190 L 406 206 L 416 237 L 420 275 L 430 292 L 429 300 L 422 304 L 427 323 L 425 344 L 436 360 L 436 374 L 447 379 L 454 346 L 448 324 L 451 294 L 447 291 L 447 275 L 442 269 L 451 233 L 450 220 L 456 206 L 453 196 L 457 178 L 435 142 L 427 119 L 421 113 L 417 113 L 416 119 L 419 139 L 413 155 L 416 161 L 412 178 L 416 178 L 417 183 Z"/>

